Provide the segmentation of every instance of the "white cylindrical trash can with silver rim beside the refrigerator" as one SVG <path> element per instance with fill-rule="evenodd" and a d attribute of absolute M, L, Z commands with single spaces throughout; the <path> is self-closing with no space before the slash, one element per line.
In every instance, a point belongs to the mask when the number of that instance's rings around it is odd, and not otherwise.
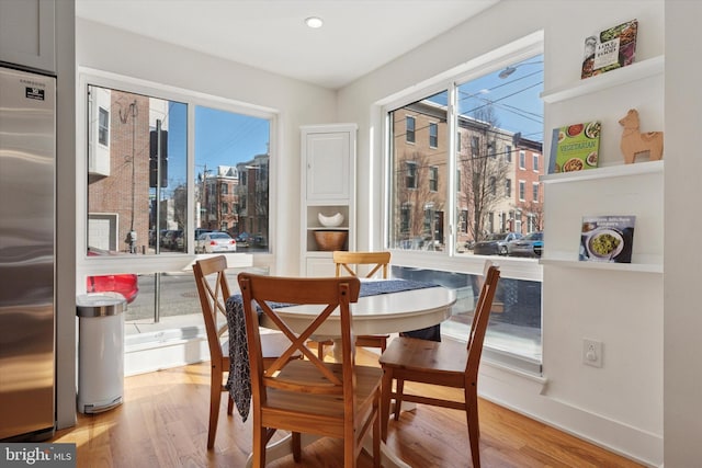
<path fill-rule="evenodd" d="M 118 293 L 78 296 L 78 411 L 101 413 L 122 404 L 124 306 Z"/>

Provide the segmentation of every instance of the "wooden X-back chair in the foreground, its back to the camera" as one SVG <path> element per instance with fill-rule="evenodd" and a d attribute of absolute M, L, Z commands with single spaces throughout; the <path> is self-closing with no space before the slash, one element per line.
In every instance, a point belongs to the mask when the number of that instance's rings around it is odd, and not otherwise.
<path fill-rule="evenodd" d="M 373 431 L 373 461 L 380 467 L 380 397 L 382 370 L 355 365 L 350 303 L 359 297 L 358 278 L 283 278 L 239 275 L 244 296 L 251 363 L 253 466 L 265 466 L 265 445 L 276 430 L 291 431 L 293 457 L 302 458 L 301 433 L 343 440 L 344 467 L 356 466 L 362 442 Z M 258 318 L 252 304 L 292 341 L 273 364 L 261 359 L 261 335 L 249 318 Z M 313 305 L 319 315 L 297 333 L 271 308 L 272 303 Z M 305 346 L 306 341 L 336 309 L 343 361 L 325 363 Z M 302 352 L 305 359 L 288 361 Z"/>

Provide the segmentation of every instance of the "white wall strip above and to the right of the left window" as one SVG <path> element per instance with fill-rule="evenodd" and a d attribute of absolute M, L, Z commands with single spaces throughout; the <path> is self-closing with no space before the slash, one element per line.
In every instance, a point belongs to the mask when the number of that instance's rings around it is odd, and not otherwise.
<path fill-rule="evenodd" d="M 336 122 L 336 93 L 239 64 L 82 19 L 76 21 L 77 65 L 279 113 L 271 227 L 274 255 L 257 255 L 278 274 L 299 272 L 299 126 Z M 80 119 L 80 116 L 79 116 Z M 78 122 L 77 125 L 82 125 Z M 273 171 L 275 171 L 273 173 Z M 82 214 L 79 213 L 79 216 Z"/>

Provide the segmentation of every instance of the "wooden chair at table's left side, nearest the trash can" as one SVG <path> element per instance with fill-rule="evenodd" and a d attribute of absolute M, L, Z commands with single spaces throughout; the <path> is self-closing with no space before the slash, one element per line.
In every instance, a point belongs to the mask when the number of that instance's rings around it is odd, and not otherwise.
<path fill-rule="evenodd" d="M 226 340 L 227 321 L 225 317 L 226 300 L 230 296 L 229 284 L 225 276 L 227 259 L 224 255 L 199 260 L 193 265 L 193 274 L 197 285 L 200 305 L 207 332 L 207 345 L 212 368 L 210 373 L 210 429 L 207 430 L 207 449 L 215 445 L 217 421 L 219 420 L 219 402 L 225 388 L 225 373 L 229 372 L 229 343 Z M 222 317 L 219 317 L 222 313 Z M 264 356 L 274 359 L 280 356 L 290 341 L 282 333 L 263 335 Z M 298 355 L 299 357 L 299 355 Z M 228 395 L 228 391 L 227 391 Z M 229 397 L 227 414 L 234 410 L 234 400 Z"/>

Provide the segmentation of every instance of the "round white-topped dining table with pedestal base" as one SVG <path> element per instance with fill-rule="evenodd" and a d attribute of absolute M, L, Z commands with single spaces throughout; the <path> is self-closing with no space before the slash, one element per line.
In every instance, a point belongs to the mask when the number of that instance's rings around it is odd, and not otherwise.
<path fill-rule="evenodd" d="M 363 287 L 363 286 L 362 286 Z M 354 334 L 385 334 L 397 333 L 407 330 L 419 330 L 435 326 L 451 316 L 451 308 L 456 301 L 456 292 L 443 286 L 422 287 L 419 289 L 399 290 L 359 297 L 359 301 L 351 304 L 353 315 Z M 315 306 L 288 306 L 275 309 L 275 312 L 285 320 L 287 326 L 302 332 L 310 321 L 310 318 L 319 313 Z M 328 333 L 324 338 L 336 340 L 339 324 L 338 313 L 332 313 L 317 330 L 318 336 Z M 265 315 L 261 317 L 260 324 L 267 328 L 275 328 Z M 335 346 L 340 349 L 341 346 Z M 339 356 L 335 353 L 335 358 Z M 302 444 L 307 445 L 319 438 L 314 434 L 302 434 Z M 364 446 L 372 447 L 371 437 L 366 437 Z M 267 460 L 274 460 L 292 453 L 290 436 L 267 447 Z M 381 441 L 382 465 L 389 467 L 409 467 L 398 458 Z M 247 466 L 251 466 L 251 459 Z"/>

